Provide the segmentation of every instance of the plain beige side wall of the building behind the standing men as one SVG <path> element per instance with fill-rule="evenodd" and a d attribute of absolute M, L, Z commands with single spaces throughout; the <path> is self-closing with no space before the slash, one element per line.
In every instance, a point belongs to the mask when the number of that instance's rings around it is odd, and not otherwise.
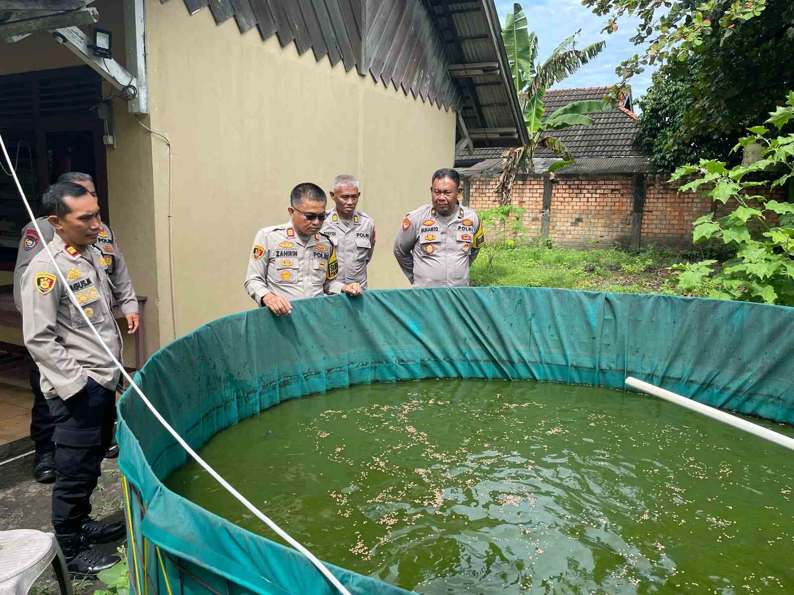
<path fill-rule="evenodd" d="M 172 142 L 172 227 L 177 334 L 255 307 L 243 281 L 259 228 L 287 221 L 299 182 L 330 190 L 357 175 L 360 208 L 376 221 L 373 288 L 407 286 L 391 255 L 410 209 L 430 201 L 430 175 L 453 163 L 455 115 L 355 69 L 209 10 L 146 3 L 152 129 Z M 168 160 L 152 140 L 156 271 L 162 340 L 172 336 L 168 250 Z M 171 330 L 169 330 L 171 329 Z"/>

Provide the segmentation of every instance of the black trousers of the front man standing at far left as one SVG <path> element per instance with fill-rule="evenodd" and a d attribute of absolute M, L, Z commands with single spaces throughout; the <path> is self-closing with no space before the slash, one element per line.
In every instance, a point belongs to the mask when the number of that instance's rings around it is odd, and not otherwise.
<path fill-rule="evenodd" d="M 69 535 L 91 514 L 91 493 L 102 473 L 101 464 L 113 439 L 116 393 L 92 378 L 79 393 L 48 399 L 55 420 L 56 480 L 52 488 L 52 526 L 56 535 Z"/>

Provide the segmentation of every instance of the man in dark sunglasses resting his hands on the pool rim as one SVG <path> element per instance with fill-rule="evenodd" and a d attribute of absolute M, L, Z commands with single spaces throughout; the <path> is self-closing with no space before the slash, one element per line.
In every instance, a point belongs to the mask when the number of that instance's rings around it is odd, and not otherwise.
<path fill-rule="evenodd" d="M 256 232 L 245 275 L 245 291 L 276 316 L 292 311 L 291 299 L 322 294 L 360 295 L 360 283 L 337 279 L 337 251 L 320 232 L 328 199 L 322 188 L 304 182 L 290 194 L 290 221 Z"/>

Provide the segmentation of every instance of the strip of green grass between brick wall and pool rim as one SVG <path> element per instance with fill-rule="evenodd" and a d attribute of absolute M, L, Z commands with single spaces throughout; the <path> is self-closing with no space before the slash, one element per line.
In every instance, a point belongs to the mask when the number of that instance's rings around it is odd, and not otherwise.
<path fill-rule="evenodd" d="M 559 287 L 632 294 L 676 294 L 667 267 L 700 253 L 651 246 L 629 253 L 621 248 L 549 248 L 486 245 L 472 265 L 475 286 Z"/>

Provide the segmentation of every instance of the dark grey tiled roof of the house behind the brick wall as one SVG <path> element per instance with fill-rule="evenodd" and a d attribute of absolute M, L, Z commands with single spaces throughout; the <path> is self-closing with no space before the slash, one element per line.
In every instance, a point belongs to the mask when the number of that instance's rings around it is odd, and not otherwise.
<path fill-rule="evenodd" d="M 584 100 L 599 100 L 608 93 L 610 87 L 596 86 L 582 89 L 553 89 L 543 96 L 543 106 L 548 115 L 554 110 Z M 588 114 L 595 120 L 590 126 L 569 126 L 553 132 L 567 146 L 575 159 L 587 157 L 646 157 L 647 152 L 634 144 L 639 130 L 637 117 L 630 111 L 630 98 L 626 107 L 615 107 L 601 112 Z M 471 167 L 482 159 L 495 159 L 507 148 L 480 148 L 474 155 L 461 151 L 456 155 L 457 167 Z M 534 152 L 536 159 L 552 159 L 553 152 L 540 148 Z"/>

